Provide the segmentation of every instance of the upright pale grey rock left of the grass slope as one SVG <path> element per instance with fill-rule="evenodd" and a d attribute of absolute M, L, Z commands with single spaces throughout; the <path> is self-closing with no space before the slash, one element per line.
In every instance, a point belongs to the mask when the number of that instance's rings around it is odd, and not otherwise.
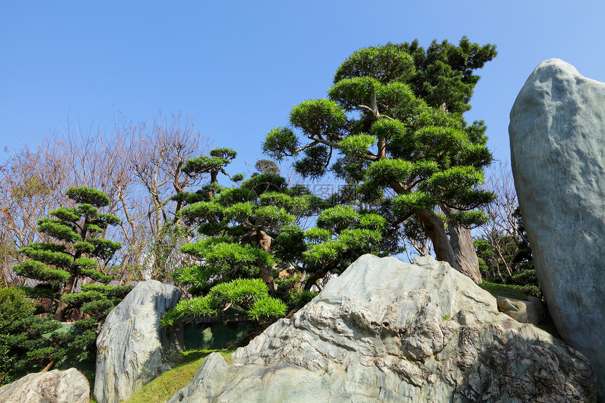
<path fill-rule="evenodd" d="M 163 357 L 180 350 L 160 330 L 160 319 L 179 301 L 181 292 L 170 284 L 139 283 L 107 316 L 96 339 L 94 396 L 99 403 L 126 400 L 160 375 Z"/>

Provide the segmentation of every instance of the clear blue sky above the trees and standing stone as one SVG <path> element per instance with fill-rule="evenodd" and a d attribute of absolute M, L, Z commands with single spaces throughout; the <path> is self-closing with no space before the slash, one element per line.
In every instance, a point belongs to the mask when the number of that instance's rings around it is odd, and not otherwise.
<path fill-rule="evenodd" d="M 326 96 L 353 51 L 466 35 L 499 52 L 466 119 L 485 120 L 509 160 L 509 111 L 538 63 L 561 58 L 605 81 L 604 15 L 602 0 L 4 1 L 0 149 L 36 146 L 68 119 L 109 127 L 117 110 L 134 121 L 180 110 L 243 167 L 293 105 Z"/>

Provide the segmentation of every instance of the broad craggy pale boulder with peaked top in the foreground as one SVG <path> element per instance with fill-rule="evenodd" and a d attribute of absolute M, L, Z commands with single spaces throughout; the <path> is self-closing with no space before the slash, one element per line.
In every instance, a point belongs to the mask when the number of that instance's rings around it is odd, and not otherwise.
<path fill-rule="evenodd" d="M 497 311 L 449 264 L 364 255 L 176 402 L 590 402 L 582 354 Z"/>

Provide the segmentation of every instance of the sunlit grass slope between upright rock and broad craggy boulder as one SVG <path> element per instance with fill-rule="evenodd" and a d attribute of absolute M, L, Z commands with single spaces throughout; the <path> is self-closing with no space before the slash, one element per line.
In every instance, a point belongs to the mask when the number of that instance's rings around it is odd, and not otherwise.
<path fill-rule="evenodd" d="M 212 352 L 219 352 L 231 364 L 231 354 L 235 350 L 190 350 L 183 352 L 185 359 L 173 369 L 163 373 L 123 403 L 160 403 L 167 402 L 174 393 L 191 382 L 204 359 Z"/>

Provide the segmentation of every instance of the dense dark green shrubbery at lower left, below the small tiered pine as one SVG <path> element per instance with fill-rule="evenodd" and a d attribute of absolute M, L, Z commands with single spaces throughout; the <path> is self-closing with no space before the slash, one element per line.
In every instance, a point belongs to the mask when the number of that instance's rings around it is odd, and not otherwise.
<path fill-rule="evenodd" d="M 52 366 L 94 364 L 96 337 L 107 313 L 132 287 L 83 286 L 65 296 L 87 319 L 70 325 L 34 316 L 38 306 L 23 288 L 0 288 L 0 385 Z"/>

